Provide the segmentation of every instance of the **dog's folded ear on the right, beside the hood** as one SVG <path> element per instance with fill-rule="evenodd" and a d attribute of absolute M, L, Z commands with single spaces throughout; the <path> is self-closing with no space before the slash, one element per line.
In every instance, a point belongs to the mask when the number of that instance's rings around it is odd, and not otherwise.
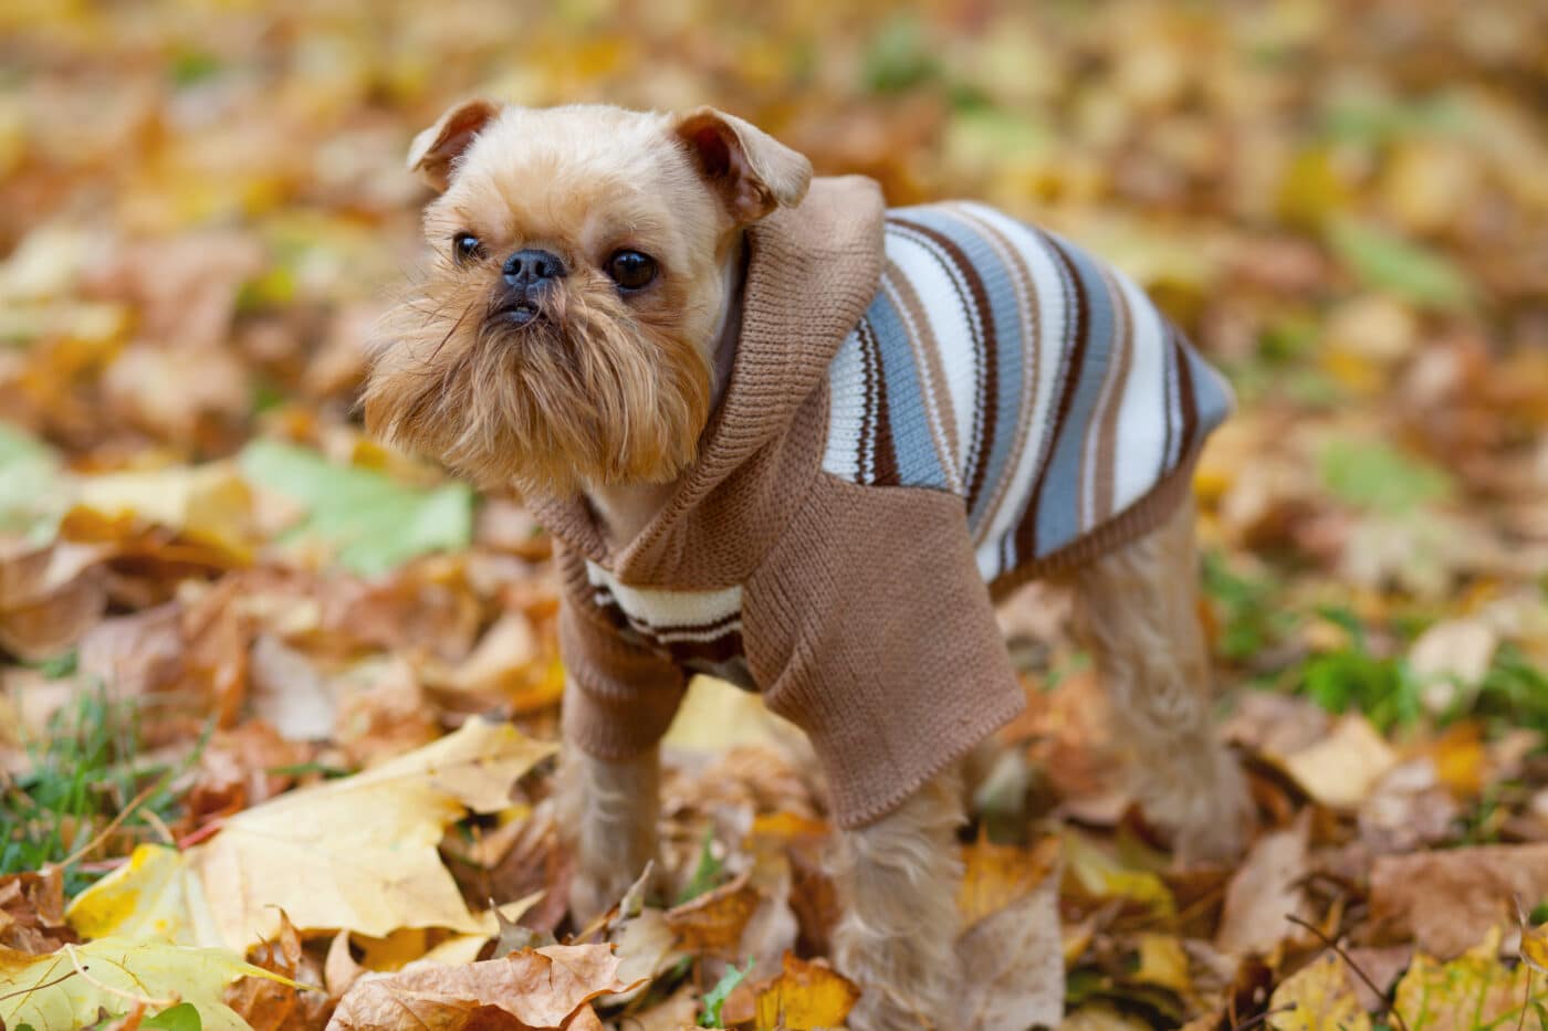
<path fill-rule="evenodd" d="M 794 207 L 811 186 L 811 161 L 735 115 L 697 107 L 672 132 L 738 224 Z"/>

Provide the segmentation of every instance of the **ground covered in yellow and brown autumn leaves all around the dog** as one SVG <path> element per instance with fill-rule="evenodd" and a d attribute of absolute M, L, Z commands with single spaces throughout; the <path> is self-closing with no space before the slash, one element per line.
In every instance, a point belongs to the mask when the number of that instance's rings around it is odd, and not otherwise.
<path fill-rule="evenodd" d="M 1063 599 L 1017 599 L 1031 704 L 940 929 L 963 1028 L 1062 974 L 1073 1028 L 1548 1026 L 1548 8 L 910 9 L 0 6 L 6 1028 L 853 1002 L 820 785 L 714 684 L 670 740 L 672 892 L 565 923 L 550 545 L 353 416 L 418 249 L 402 153 L 472 91 L 714 102 L 895 203 L 985 198 L 1229 372 L 1203 616 L 1259 836 L 1173 868 Z"/>

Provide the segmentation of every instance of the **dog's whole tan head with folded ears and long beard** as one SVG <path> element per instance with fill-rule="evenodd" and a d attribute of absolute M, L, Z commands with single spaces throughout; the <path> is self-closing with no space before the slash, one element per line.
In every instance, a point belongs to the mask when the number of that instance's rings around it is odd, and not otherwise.
<path fill-rule="evenodd" d="M 409 166 L 433 259 L 373 344 L 372 432 L 481 486 L 661 483 L 695 457 L 741 229 L 811 166 L 712 108 L 454 107 Z"/>

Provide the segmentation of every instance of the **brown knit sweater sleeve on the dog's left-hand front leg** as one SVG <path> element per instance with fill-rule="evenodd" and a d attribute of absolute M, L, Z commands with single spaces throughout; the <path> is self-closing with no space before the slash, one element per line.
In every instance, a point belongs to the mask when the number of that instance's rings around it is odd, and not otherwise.
<path fill-rule="evenodd" d="M 598 608 L 579 556 L 567 550 L 559 562 L 565 740 L 598 759 L 632 759 L 667 732 L 687 678 Z"/>

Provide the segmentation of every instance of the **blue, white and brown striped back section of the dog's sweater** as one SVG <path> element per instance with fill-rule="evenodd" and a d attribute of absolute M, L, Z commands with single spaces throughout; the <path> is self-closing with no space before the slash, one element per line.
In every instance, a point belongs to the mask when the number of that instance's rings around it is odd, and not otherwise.
<path fill-rule="evenodd" d="M 972 203 L 887 214 L 881 288 L 828 389 L 822 468 L 961 497 L 991 584 L 1110 523 L 1231 407 L 1124 272 Z"/>

